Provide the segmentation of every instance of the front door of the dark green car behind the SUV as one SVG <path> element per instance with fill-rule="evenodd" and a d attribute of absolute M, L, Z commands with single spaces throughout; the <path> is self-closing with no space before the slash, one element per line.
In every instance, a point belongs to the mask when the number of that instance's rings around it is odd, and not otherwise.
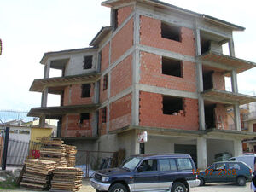
<path fill-rule="evenodd" d="M 213 164 L 206 174 L 207 182 L 226 182 L 227 170 L 224 162 Z"/>

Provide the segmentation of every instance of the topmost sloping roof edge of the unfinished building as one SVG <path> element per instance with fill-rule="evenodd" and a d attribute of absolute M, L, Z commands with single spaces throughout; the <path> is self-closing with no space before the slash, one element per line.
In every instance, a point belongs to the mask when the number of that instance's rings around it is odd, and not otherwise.
<path fill-rule="evenodd" d="M 147 4 L 151 4 L 153 6 L 157 6 L 157 7 L 165 7 L 167 9 L 176 9 L 177 11 L 183 12 L 184 14 L 187 14 L 187 15 L 193 15 L 195 17 L 200 17 L 203 20 L 208 20 L 208 21 L 212 21 L 212 22 L 224 25 L 224 26 L 228 26 L 236 31 L 245 30 L 245 27 L 243 27 L 243 26 L 237 26 L 237 25 L 227 22 L 225 20 L 220 20 L 218 18 L 212 17 L 210 15 L 199 14 L 199 13 L 196 13 L 189 9 L 183 9 L 183 8 L 177 7 L 175 5 L 172 5 L 170 3 L 165 3 L 165 2 L 158 1 L 158 0 L 133 0 L 133 1 L 147 3 Z M 106 6 L 106 7 L 113 7 L 113 6 L 119 5 L 121 3 L 129 3 L 129 2 L 131 2 L 131 0 L 108 0 L 108 1 L 102 2 L 102 5 Z"/>

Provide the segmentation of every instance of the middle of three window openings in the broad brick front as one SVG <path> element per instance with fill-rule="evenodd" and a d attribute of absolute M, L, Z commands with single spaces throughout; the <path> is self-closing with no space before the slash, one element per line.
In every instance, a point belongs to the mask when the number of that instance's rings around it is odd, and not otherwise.
<path fill-rule="evenodd" d="M 162 74 L 183 77 L 182 61 L 162 57 Z"/>

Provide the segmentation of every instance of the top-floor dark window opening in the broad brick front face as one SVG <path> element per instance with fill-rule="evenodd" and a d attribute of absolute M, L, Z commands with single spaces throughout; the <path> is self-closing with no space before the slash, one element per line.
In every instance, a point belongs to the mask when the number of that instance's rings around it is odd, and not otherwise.
<path fill-rule="evenodd" d="M 164 22 L 161 23 L 161 35 L 162 38 L 168 38 L 174 41 L 181 41 L 180 38 L 180 27 L 171 26 Z"/>

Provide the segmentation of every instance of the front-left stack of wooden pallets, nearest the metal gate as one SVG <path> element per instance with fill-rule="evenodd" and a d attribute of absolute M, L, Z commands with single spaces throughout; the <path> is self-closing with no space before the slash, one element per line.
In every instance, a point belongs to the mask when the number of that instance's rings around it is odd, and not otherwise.
<path fill-rule="evenodd" d="M 22 176 L 22 189 L 48 190 L 52 172 L 57 164 L 50 160 L 26 160 L 26 171 Z"/>

